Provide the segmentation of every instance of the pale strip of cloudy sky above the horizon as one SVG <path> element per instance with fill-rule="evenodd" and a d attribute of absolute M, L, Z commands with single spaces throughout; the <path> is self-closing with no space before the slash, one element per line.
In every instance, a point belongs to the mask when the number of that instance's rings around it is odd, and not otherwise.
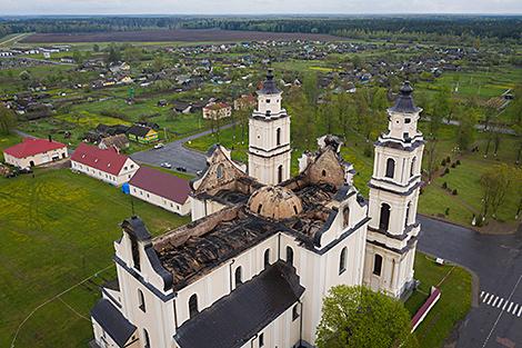
<path fill-rule="evenodd" d="M 522 13 L 522 0 L 0 0 L 2 14 Z"/>

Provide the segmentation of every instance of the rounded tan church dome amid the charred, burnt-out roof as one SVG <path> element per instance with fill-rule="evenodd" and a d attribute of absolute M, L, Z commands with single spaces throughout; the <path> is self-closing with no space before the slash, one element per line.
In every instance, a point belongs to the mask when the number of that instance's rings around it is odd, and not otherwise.
<path fill-rule="evenodd" d="M 281 220 L 303 210 L 301 199 L 292 190 L 280 186 L 265 186 L 252 193 L 249 209 L 265 218 Z"/>

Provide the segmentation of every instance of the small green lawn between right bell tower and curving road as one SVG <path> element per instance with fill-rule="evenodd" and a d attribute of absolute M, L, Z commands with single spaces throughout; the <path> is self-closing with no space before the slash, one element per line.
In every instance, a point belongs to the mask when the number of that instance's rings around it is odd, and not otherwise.
<path fill-rule="evenodd" d="M 416 253 L 414 267 L 415 279 L 421 285 L 405 307 L 413 316 L 428 298 L 432 286 L 441 290 L 441 298 L 415 330 L 420 347 L 440 348 L 471 309 L 472 276 L 460 267 L 439 266 L 422 252 Z"/>

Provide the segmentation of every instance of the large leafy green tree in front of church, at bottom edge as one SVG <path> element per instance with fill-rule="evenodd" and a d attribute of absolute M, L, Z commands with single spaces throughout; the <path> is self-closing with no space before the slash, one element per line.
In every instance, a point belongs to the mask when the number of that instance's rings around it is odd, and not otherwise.
<path fill-rule="evenodd" d="M 337 286 L 323 300 L 315 344 L 319 348 L 413 348 L 411 319 L 404 306 L 384 294 L 358 286 Z"/>

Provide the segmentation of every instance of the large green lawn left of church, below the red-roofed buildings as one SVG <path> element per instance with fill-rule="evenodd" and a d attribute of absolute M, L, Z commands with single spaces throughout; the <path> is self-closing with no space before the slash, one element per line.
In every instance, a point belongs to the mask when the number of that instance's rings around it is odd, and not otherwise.
<path fill-rule="evenodd" d="M 153 235 L 189 221 L 140 200 L 134 211 Z M 129 196 L 69 169 L 0 178 L 0 347 L 10 346 L 37 306 L 97 275 L 37 310 L 16 344 L 87 346 L 89 309 L 100 296 L 98 285 L 114 277 L 113 241 L 129 216 Z"/>

